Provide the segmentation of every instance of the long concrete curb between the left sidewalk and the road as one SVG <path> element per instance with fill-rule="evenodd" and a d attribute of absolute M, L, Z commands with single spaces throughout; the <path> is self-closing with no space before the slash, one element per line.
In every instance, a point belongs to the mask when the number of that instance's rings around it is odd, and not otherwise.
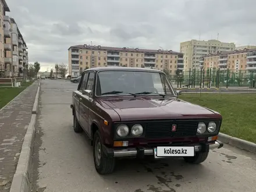
<path fill-rule="evenodd" d="M 41 83 L 38 83 L 37 94 L 35 95 L 35 101 L 33 109 L 38 110 L 38 99 Z M 37 112 L 37 111 L 36 111 Z M 37 119 L 37 113 L 31 115 L 29 127 L 27 127 L 27 133 L 24 137 L 22 144 L 22 151 L 20 151 L 20 157 L 17 164 L 15 175 L 13 176 L 12 185 L 10 186 L 10 192 L 27 192 L 30 188 L 30 166 L 32 159 L 32 150 L 35 136 L 35 121 Z"/>

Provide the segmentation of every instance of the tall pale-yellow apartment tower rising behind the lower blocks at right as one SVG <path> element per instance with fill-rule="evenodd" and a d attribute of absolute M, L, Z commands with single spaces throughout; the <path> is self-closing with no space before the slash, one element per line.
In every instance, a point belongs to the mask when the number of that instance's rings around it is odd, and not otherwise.
<path fill-rule="evenodd" d="M 199 61 L 202 56 L 216 54 L 218 51 L 234 51 L 235 47 L 236 45 L 233 42 L 218 40 L 181 42 L 180 52 L 184 54 L 184 70 L 200 69 Z"/>

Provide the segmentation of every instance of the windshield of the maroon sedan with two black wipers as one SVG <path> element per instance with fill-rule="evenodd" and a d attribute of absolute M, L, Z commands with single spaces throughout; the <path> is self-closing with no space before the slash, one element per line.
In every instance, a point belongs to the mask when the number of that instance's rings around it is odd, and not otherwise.
<path fill-rule="evenodd" d="M 164 73 L 127 70 L 98 72 L 96 95 L 175 96 Z"/>

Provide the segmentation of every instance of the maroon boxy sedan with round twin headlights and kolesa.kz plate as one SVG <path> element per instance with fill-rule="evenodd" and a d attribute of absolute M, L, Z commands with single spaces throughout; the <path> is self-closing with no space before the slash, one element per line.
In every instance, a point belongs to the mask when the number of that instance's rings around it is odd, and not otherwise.
<path fill-rule="evenodd" d="M 201 163 L 221 148 L 222 116 L 179 99 L 161 70 L 87 69 L 72 95 L 73 129 L 93 145 L 95 169 L 112 173 L 118 158 L 183 157 Z"/>

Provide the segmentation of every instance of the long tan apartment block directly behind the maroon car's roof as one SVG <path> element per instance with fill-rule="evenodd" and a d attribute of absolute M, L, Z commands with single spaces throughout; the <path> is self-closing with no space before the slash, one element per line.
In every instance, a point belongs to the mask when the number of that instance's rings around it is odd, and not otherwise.
<path fill-rule="evenodd" d="M 102 47 L 101 45 L 76 45 L 68 49 L 69 75 L 80 76 L 86 67 L 126 66 L 148 67 L 175 74 L 183 70 L 183 54 L 172 50 Z"/>

